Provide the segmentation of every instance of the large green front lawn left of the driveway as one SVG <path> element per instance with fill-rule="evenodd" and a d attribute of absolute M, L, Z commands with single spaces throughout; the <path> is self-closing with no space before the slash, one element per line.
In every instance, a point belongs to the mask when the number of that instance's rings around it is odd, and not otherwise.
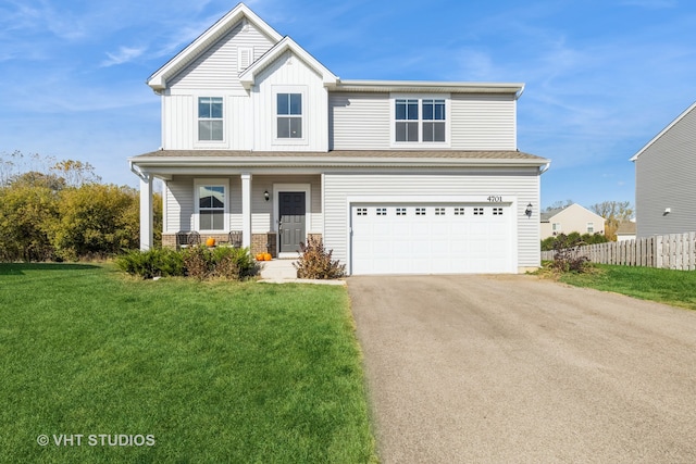
<path fill-rule="evenodd" d="M 343 287 L 0 264 L 0 462 L 376 461 Z"/>

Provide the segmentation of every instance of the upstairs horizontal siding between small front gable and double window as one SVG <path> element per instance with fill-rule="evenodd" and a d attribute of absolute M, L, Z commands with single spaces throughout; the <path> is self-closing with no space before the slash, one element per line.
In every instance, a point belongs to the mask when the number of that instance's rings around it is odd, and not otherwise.
<path fill-rule="evenodd" d="M 328 98 L 332 150 L 388 150 L 389 95 L 333 92 Z"/>

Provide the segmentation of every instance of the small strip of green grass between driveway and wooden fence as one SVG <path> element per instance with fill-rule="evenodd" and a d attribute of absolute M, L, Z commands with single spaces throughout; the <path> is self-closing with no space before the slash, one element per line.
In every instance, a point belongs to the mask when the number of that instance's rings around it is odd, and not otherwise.
<path fill-rule="evenodd" d="M 696 272 L 597 264 L 598 272 L 563 274 L 560 280 L 597 290 L 696 310 Z"/>

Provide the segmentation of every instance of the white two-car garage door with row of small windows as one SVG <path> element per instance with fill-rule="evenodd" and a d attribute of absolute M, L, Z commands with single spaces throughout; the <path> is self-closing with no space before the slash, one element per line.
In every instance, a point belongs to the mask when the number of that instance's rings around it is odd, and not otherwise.
<path fill-rule="evenodd" d="M 351 230 L 356 275 L 514 272 L 509 204 L 353 204 Z"/>

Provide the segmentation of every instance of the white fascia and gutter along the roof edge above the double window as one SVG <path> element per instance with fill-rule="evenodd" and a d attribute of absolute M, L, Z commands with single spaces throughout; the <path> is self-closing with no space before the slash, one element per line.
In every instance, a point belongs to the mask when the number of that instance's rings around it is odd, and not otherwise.
<path fill-rule="evenodd" d="M 448 91 L 453 93 L 514 93 L 524 91 L 521 83 L 455 83 L 437 80 L 340 80 L 335 90 L 347 91 Z"/>

